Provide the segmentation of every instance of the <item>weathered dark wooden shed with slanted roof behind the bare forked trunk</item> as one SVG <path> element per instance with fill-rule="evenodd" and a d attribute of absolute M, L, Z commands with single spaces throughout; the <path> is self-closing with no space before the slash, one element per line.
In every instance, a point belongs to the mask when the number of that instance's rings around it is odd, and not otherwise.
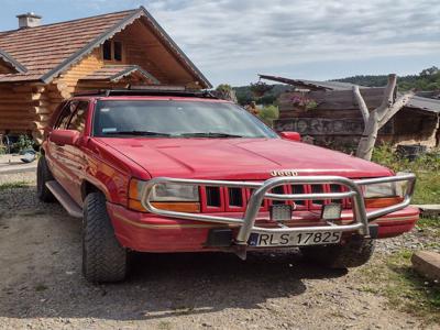
<path fill-rule="evenodd" d="M 352 84 L 311 81 L 261 75 L 293 86 L 280 95 L 277 131 L 297 131 L 319 145 L 348 150 L 356 146 L 364 129 Z M 360 87 L 370 110 L 382 102 L 384 87 Z M 380 131 L 377 141 L 439 146 L 440 100 L 414 96 L 407 106 Z"/>

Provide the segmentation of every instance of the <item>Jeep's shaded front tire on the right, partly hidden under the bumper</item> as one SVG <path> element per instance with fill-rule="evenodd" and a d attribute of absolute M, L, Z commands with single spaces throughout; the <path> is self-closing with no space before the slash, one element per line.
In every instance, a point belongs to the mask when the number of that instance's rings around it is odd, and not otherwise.
<path fill-rule="evenodd" d="M 375 242 L 371 239 L 352 238 L 343 245 L 302 248 L 306 260 L 329 268 L 359 267 L 373 255 Z"/>

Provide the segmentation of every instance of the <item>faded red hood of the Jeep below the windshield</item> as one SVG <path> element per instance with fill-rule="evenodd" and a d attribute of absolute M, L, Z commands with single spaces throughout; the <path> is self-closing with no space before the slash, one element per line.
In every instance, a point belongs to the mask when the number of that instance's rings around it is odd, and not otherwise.
<path fill-rule="evenodd" d="M 343 153 L 282 139 L 98 138 L 145 168 L 152 177 L 266 179 L 271 172 L 389 176 L 386 167 Z"/>

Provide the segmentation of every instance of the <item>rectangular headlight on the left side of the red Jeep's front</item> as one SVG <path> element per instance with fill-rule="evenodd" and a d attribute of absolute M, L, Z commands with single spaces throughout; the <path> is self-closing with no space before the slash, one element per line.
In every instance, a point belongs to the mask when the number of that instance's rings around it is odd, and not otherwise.
<path fill-rule="evenodd" d="M 199 201 L 199 189 L 194 185 L 161 184 L 152 191 L 152 201 Z"/>

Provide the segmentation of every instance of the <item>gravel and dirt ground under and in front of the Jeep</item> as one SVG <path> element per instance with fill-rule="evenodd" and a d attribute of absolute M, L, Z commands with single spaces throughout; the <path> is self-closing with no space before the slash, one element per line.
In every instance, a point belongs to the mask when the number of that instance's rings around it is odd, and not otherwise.
<path fill-rule="evenodd" d="M 138 254 L 128 282 L 91 285 L 80 275 L 80 222 L 35 199 L 33 174 L 20 180 L 30 187 L 0 190 L 0 329 L 424 327 L 362 290 L 359 270 L 317 267 L 295 251 L 252 253 L 246 262 L 221 253 Z M 418 235 L 381 241 L 374 257 L 418 246 Z"/>

